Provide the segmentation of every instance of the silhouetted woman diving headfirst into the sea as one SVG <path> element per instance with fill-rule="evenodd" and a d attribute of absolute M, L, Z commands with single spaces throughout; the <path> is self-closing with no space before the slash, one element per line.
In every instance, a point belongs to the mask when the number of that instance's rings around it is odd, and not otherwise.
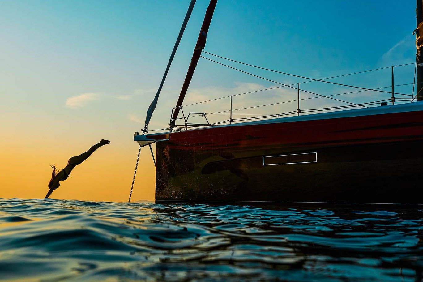
<path fill-rule="evenodd" d="M 46 198 L 50 197 L 52 192 L 59 188 L 59 186 L 60 186 L 59 181 L 63 181 L 63 180 L 68 179 L 68 177 L 70 176 L 71 171 L 74 169 L 74 167 L 76 167 L 78 164 L 85 161 L 98 148 L 100 148 L 103 145 L 109 144 L 109 143 L 110 143 L 110 141 L 102 139 L 100 142 L 93 145 L 93 147 L 91 147 L 85 153 L 82 153 L 82 154 L 80 154 L 79 156 L 76 156 L 76 157 L 71 157 L 69 159 L 66 167 L 63 170 L 60 170 L 59 172 L 57 172 L 56 166 L 52 165 L 51 166 L 52 169 L 53 169 L 52 179 L 50 179 L 50 181 L 49 181 L 49 185 L 48 185 L 49 186 L 49 192 L 47 192 Z"/>

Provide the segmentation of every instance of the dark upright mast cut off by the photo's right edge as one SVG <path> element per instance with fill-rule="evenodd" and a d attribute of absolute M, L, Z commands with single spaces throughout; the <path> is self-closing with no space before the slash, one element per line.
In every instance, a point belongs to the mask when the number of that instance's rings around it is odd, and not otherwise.
<path fill-rule="evenodd" d="M 423 0 L 416 0 L 417 101 L 423 100 Z"/>

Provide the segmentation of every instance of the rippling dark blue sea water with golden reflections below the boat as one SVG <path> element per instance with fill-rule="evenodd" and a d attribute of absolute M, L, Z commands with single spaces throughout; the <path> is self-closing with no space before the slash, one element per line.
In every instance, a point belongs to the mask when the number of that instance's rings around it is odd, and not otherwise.
<path fill-rule="evenodd" d="M 421 281 L 422 211 L 0 199 L 0 280 Z"/>

